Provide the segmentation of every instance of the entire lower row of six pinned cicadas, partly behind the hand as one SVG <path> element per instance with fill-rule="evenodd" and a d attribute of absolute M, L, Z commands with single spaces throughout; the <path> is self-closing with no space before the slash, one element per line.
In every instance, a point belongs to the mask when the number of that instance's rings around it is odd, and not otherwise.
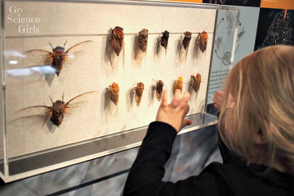
<path fill-rule="evenodd" d="M 200 83 L 201 83 L 201 75 L 197 73 L 196 76 L 191 75 L 191 91 L 195 92 L 196 94 L 198 93 L 198 90 L 200 88 Z M 154 80 L 155 81 L 155 80 Z M 164 83 L 162 80 L 157 80 L 155 81 L 156 83 L 152 85 L 153 90 L 156 91 L 156 98 L 158 101 L 161 101 L 162 99 L 162 91 L 164 87 Z M 179 89 L 180 91 L 183 90 L 183 78 L 182 76 L 179 76 L 178 79 L 174 82 L 173 84 L 173 92 Z M 118 114 L 118 103 L 119 103 L 119 92 L 120 92 L 120 87 L 117 83 L 113 82 L 112 85 L 109 85 L 108 89 L 108 106 L 109 106 L 109 112 L 110 115 L 113 117 L 116 117 Z M 139 82 L 137 83 L 137 86 L 134 87 L 134 95 L 135 95 L 135 101 L 136 105 L 139 107 L 141 98 L 143 96 L 144 92 L 144 83 Z M 192 93 L 191 92 L 191 93 Z M 13 120 L 12 122 L 9 122 L 10 124 L 14 123 L 24 123 L 25 121 L 28 120 L 28 118 L 42 118 L 43 123 L 47 123 L 49 120 L 55 124 L 56 126 L 60 126 L 64 115 L 69 113 L 69 110 L 73 110 L 76 107 L 81 107 L 81 104 L 85 104 L 88 101 L 88 96 L 93 95 L 97 93 L 96 91 L 91 91 L 87 93 L 83 93 L 81 95 L 78 95 L 72 99 L 70 99 L 68 102 L 64 102 L 63 96 L 62 100 L 56 100 L 53 102 L 51 97 L 49 96 L 52 106 L 46 106 L 46 105 L 37 105 L 37 106 L 31 106 L 31 107 L 26 107 L 24 109 L 21 109 L 17 112 L 17 114 L 31 114 L 31 116 L 25 116 L 16 120 Z M 42 115 L 37 115 L 36 109 L 38 110 L 43 110 Z M 39 113 L 39 112 L 38 112 Z M 27 123 L 27 122 L 26 122 Z"/>

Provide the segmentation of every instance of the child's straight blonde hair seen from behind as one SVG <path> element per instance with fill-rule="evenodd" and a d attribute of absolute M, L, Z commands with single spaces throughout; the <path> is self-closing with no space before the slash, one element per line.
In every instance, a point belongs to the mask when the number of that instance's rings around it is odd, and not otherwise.
<path fill-rule="evenodd" d="M 294 47 L 245 56 L 225 84 L 219 130 L 225 144 L 254 163 L 294 173 Z M 229 94 L 235 106 L 225 108 Z M 256 144 L 258 135 L 264 141 Z"/>

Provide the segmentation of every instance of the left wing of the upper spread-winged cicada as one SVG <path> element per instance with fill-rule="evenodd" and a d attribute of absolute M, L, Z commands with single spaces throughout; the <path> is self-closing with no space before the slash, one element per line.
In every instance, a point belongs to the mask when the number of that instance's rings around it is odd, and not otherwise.
<path fill-rule="evenodd" d="M 32 49 L 24 53 L 26 58 L 38 65 L 51 65 L 53 61 L 52 53 L 42 49 Z"/>

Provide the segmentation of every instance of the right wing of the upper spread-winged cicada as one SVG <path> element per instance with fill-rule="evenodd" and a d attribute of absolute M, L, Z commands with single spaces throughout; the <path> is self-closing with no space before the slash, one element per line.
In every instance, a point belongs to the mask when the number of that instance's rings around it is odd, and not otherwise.
<path fill-rule="evenodd" d="M 72 46 L 71 48 L 66 50 L 64 61 L 69 64 L 73 63 L 78 59 L 78 57 L 84 54 L 87 51 L 87 49 L 89 49 L 93 45 L 93 43 L 93 41 L 89 40 Z"/>

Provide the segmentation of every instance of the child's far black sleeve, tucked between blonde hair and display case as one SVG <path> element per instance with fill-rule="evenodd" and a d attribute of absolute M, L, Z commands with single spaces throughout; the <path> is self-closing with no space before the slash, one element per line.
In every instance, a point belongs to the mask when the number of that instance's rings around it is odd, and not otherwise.
<path fill-rule="evenodd" d="M 219 118 L 219 114 L 218 113 L 218 118 Z M 225 144 L 223 143 L 223 141 L 221 140 L 221 136 L 220 136 L 220 132 L 219 131 L 224 131 L 223 126 L 222 130 L 218 130 L 218 143 L 219 143 L 219 148 L 220 148 L 220 152 L 221 152 L 221 157 L 222 157 L 222 161 L 224 164 L 231 164 L 231 165 L 247 165 L 246 159 L 244 157 L 241 157 L 239 155 L 237 155 L 236 153 L 232 152 L 227 146 L 225 146 Z M 218 126 L 217 126 L 217 129 Z"/>

